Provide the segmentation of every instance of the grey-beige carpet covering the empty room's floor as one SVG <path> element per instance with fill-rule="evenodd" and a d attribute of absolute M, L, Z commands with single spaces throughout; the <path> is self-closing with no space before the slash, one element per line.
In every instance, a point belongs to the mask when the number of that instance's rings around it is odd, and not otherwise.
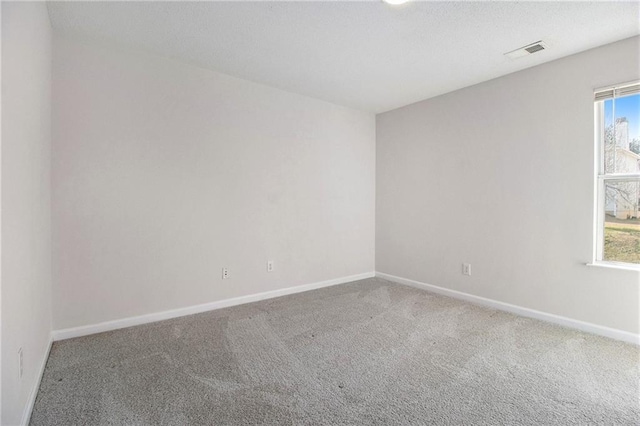
<path fill-rule="evenodd" d="M 367 279 L 53 345 L 32 425 L 638 425 L 640 350 Z"/>

